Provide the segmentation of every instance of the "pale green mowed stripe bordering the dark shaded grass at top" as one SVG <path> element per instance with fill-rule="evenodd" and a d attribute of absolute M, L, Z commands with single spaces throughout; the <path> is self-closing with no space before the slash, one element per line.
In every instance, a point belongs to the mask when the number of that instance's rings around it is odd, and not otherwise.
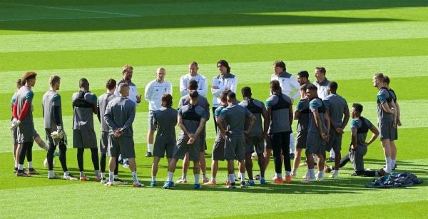
<path fill-rule="evenodd" d="M 419 21 L 370 24 L 320 24 L 317 26 L 317 29 L 314 29 L 313 26 L 302 25 L 251 26 L 226 29 L 129 30 L 89 33 L 68 32 L 58 34 L 46 34 L 46 32 L 41 32 L 38 34 L 2 35 L 0 36 L 0 41 L 4 42 L 4 46 L 0 48 L 0 52 L 416 39 L 428 37 L 428 31 L 423 31 L 427 24 L 428 22 Z M 328 34 L 318 34 L 320 29 Z M 407 31 L 403 31 L 403 29 Z M 287 37 L 277 34 L 279 32 L 287 33 Z"/>

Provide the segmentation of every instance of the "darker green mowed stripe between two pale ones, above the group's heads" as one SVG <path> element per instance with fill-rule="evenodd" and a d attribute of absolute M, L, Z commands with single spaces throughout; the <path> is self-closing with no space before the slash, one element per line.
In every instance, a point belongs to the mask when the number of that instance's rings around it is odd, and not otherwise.
<path fill-rule="evenodd" d="M 215 63 L 220 58 L 225 58 L 233 63 L 272 61 L 279 58 L 295 61 L 320 58 L 426 56 L 428 54 L 427 48 L 428 39 L 402 39 L 126 50 L 17 52 L 0 54 L 0 59 L 6 63 L 1 66 L 0 71 L 104 68 L 122 66 L 123 63 L 133 63 L 136 66 L 178 65 L 188 63 L 189 60 L 198 60 L 200 63 Z M 326 51 L 334 52 L 327 53 Z"/>

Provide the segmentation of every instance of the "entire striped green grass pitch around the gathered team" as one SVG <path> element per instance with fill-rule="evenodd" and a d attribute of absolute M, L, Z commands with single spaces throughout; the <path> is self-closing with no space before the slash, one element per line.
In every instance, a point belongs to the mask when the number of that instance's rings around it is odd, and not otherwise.
<path fill-rule="evenodd" d="M 193 190 L 189 183 L 171 190 L 157 188 L 106 188 L 100 183 L 47 180 L 46 153 L 34 146 L 34 165 L 41 175 L 16 178 L 12 172 L 9 130 L 10 98 L 14 81 L 34 70 L 34 121 L 44 133 L 41 97 L 48 78 L 62 78 L 63 120 L 71 137 L 71 93 L 78 79 L 88 78 L 91 91 L 100 96 L 108 78 L 119 79 L 121 66 L 134 66 L 133 82 L 140 93 L 155 78 L 156 68 L 166 68 L 178 101 L 178 80 L 190 61 L 200 63 L 208 78 L 218 74 L 215 63 L 229 61 L 238 76 L 238 90 L 253 88 L 265 100 L 272 62 L 284 60 L 287 71 L 305 69 L 314 80 L 315 66 L 327 68 L 327 78 L 339 83 L 338 92 L 348 103 L 362 103 L 363 115 L 376 123 L 376 89 L 372 75 L 391 78 L 402 108 L 397 165 L 399 170 L 428 180 L 428 2 L 379 0 L 238 1 L 238 0 L 126 0 L 126 1 L 0 1 L 0 218 L 426 218 L 427 183 L 410 188 L 365 188 L 372 178 L 354 178 L 351 165 L 340 178 L 300 183 L 300 168 L 293 183 L 274 185 L 273 163 L 267 185 L 227 190 L 225 163 L 220 162 L 220 185 Z M 208 94 L 208 99 L 212 95 Z M 134 123 L 138 175 L 148 185 L 151 158 L 145 158 L 147 103 L 137 107 Z M 207 124 L 208 153 L 215 131 Z M 295 127 L 295 125 L 293 125 Z M 349 129 L 349 128 L 347 128 Z M 96 124 L 99 130 L 99 124 Z M 97 131 L 98 132 L 98 131 Z M 350 133 L 343 138 L 347 152 Z M 208 166 L 210 156 L 206 156 Z M 370 146 L 366 168 L 384 161 L 379 141 Z M 68 167 L 78 175 L 76 150 L 68 146 Z M 56 158 L 56 173 L 61 173 Z M 258 172 L 257 165 L 255 172 Z M 89 151 L 86 173 L 93 178 Z M 181 173 L 181 162 L 175 179 Z M 128 169 L 121 178 L 131 182 Z M 210 168 L 208 167 L 208 175 Z M 158 184 L 166 178 L 161 160 Z"/>

